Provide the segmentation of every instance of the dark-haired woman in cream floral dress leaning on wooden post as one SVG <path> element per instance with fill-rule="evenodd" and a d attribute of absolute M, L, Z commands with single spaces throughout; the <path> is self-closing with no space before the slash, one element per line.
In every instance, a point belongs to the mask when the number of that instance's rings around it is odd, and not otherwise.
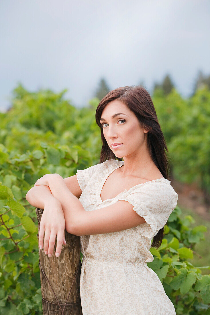
<path fill-rule="evenodd" d="M 160 246 L 178 199 L 168 180 L 168 150 L 149 93 L 142 86 L 110 91 L 96 109 L 96 123 L 102 137 L 99 164 L 67 179 L 48 174 L 35 183 L 49 186 L 54 198 L 45 196 L 39 246 L 45 232 L 44 250 L 52 254 L 57 234 L 59 255 L 64 227 L 80 236 L 84 315 L 176 315 L 147 266 L 154 259 L 151 240 L 153 247 Z"/>

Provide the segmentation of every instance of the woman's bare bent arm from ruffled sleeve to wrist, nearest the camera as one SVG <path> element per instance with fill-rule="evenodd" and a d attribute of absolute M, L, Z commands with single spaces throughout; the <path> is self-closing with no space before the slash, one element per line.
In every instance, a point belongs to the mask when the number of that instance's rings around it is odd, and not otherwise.
<path fill-rule="evenodd" d="M 82 203 L 68 190 L 61 176 L 49 177 L 48 183 L 52 195 L 61 203 L 68 233 L 78 236 L 109 233 L 146 222 L 133 211 L 133 205 L 128 201 L 120 200 L 105 208 L 85 211 Z"/>

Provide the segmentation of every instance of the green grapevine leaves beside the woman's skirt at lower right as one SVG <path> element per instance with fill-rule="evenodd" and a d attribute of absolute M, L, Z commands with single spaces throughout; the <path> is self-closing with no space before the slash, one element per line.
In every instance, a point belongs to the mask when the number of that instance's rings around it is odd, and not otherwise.
<path fill-rule="evenodd" d="M 207 227 L 190 228 L 193 218 L 188 215 L 181 220 L 180 215 L 177 206 L 168 219 L 162 244 L 150 249 L 154 261 L 147 265 L 158 275 L 177 314 L 206 314 L 210 275 L 202 275 L 202 270 L 210 266 L 195 267 L 188 259 L 196 254 L 195 244 L 204 239 Z"/>

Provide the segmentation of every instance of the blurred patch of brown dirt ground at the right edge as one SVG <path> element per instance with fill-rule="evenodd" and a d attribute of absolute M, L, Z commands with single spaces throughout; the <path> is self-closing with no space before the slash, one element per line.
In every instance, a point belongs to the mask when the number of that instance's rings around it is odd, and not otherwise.
<path fill-rule="evenodd" d="M 210 205 L 204 203 L 203 192 L 195 184 L 185 184 L 171 180 L 171 186 L 178 194 L 178 206 L 190 208 L 204 220 L 210 221 Z"/>

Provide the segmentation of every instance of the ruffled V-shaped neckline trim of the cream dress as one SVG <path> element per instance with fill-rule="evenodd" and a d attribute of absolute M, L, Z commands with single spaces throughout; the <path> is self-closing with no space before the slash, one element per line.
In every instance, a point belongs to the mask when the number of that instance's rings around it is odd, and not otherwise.
<path fill-rule="evenodd" d="M 116 165 L 115 165 L 115 162 L 112 163 L 112 160 L 113 161 L 116 161 Z M 120 192 L 117 196 L 115 196 L 114 198 L 110 198 L 110 199 L 105 199 L 102 201 L 101 199 L 101 192 L 102 192 L 102 188 L 103 188 L 103 185 L 105 184 L 106 180 L 108 179 L 109 175 L 114 172 L 115 169 L 118 169 L 120 168 L 122 165 L 124 165 L 124 161 L 118 161 L 118 160 L 115 160 L 115 159 L 110 159 L 110 160 L 107 160 L 107 161 L 110 161 L 110 163 L 108 164 L 107 168 L 104 170 L 104 172 L 102 173 L 102 175 L 104 175 L 104 177 L 102 176 L 103 180 L 101 182 L 101 185 L 99 186 L 99 192 L 97 194 L 97 204 L 100 205 L 102 203 L 104 203 L 105 201 L 109 201 L 109 200 L 113 200 L 113 199 L 116 199 L 119 195 L 123 194 L 124 192 L 130 192 L 130 190 L 133 190 L 134 188 L 138 187 L 138 186 L 142 186 L 142 185 L 145 185 L 147 183 L 151 183 L 151 182 L 155 182 L 155 181 L 163 181 L 165 182 L 166 184 L 168 185 L 171 185 L 171 181 L 170 180 L 167 180 L 166 178 L 158 178 L 158 179 L 154 179 L 154 180 L 149 180 L 149 181 L 146 181 L 145 183 L 141 183 L 141 184 L 137 184 L 133 187 L 131 187 L 130 189 L 125 189 L 123 192 Z M 109 169 L 110 168 L 110 169 Z"/>

